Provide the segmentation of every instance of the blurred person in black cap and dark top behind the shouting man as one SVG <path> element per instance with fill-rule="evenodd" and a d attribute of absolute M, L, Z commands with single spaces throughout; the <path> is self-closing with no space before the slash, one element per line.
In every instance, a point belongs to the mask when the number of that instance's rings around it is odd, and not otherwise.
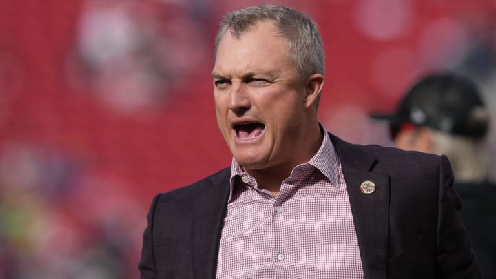
<path fill-rule="evenodd" d="M 496 186 L 486 176 L 490 117 L 475 83 L 451 72 L 429 74 L 407 92 L 395 113 L 371 117 L 389 122 L 397 147 L 448 156 L 464 205 L 460 215 L 482 274 L 496 278 Z"/>

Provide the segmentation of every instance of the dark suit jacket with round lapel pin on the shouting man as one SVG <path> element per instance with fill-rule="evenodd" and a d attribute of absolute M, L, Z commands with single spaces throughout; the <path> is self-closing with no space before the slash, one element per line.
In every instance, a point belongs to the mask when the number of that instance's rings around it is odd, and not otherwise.
<path fill-rule="evenodd" d="M 348 187 L 365 278 L 481 278 L 446 156 L 330 136 Z M 230 168 L 223 169 L 154 198 L 141 279 L 215 278 L 229 175 Z M 378 189 L 362 194 L 364 180 Z"/>

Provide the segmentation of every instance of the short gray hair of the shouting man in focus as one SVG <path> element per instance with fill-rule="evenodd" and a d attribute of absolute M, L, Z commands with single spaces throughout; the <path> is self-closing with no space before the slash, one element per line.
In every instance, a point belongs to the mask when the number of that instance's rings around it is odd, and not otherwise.
<path fill-rule="evenodd" d="M 239 39 L 263 20 L 274 21 L 282 37 L 287 39 L 287 59 L 295 66 L 300 79 L 316 73 L 324 75 L 324 43 L 316 23 L 306 14 L 285 6 L 260 5 L 226 14 L 216 36 L 214 57 L 227 30 Z"/>

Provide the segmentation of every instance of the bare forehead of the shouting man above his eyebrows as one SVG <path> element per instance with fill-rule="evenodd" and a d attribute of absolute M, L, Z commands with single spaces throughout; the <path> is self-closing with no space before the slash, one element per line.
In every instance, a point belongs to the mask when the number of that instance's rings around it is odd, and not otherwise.
<path fill-rule="evenodd" d="M 278 67 L 282 63 L 287 63 L 287 40 L 276 23 L 259 21 L 239 37 L 227 30 L 218 45 L 214 71 L 257 65 Z"/>

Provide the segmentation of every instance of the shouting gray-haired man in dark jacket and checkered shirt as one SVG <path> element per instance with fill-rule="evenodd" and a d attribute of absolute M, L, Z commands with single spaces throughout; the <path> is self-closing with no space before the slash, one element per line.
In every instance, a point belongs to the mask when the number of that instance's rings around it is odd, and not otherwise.
<path fill-rule="evenodd" d="M 479 278 L 445 156 L 353 145 L 318 122 L 309 17 L 227 14 L 212 76 L 231 167 L 154 198 L 141 278 Z"/>

